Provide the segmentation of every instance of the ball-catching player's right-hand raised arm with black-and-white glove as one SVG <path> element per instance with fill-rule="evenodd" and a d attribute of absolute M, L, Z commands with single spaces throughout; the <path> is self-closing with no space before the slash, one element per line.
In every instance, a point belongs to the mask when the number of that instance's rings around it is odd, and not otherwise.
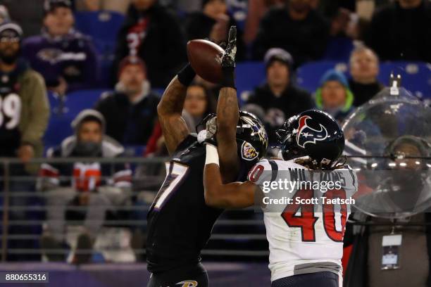
<path fill-rule="evenodd" d="M 220 155 L 220 172 L 223 182 L 237 179 L 239 158 L 237 155 L 237 124 L 239 108 L 235 89 L 235 54 L 237 53 L 237 27 L 229 30 L 229 39 L 222 58 L 223 81 L 217 103 L 217 148 Z"/>

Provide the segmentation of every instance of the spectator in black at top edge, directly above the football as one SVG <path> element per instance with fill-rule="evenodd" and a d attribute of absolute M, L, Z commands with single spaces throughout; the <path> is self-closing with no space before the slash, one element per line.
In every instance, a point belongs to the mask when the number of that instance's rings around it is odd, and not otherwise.
<path fill-rule="evenodd" d="M 186 23 L 187 40 L 209 38 L 216 43 L 227 42 L 227 34 L 234 18 L 227 14 L 225 0 L 205 0 L 202 11 L 189 15 Z M 244 58 L 242 31 L 237 30 L 237 60 Z"/>

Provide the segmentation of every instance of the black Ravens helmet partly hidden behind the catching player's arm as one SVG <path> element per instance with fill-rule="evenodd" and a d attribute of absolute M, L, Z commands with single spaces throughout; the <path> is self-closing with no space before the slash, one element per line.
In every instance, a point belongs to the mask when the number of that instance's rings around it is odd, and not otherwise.
<path fill-rule="evenodd" d="M 211 122 L 209 129 L 211 134 L 215 134 L 217 127 L 215 125 L 216 115 L 211 113 L 196 126 L 199 130 L 200 126 L 206 127 L 207 123 Z M 208 127 L 207 127 L 208 128 Z M 198 136 L 199 138 L 199 136 Z M 217 144 L 215 136 L 207 138 L 207 141 Z M 239 120 L 237 125 L 237 148 L 238 155 L 243 160 L 260 160 L 266 155 L 268 148 L 268 134 L 261 120 L 249 112 L 239 111 Z"/>

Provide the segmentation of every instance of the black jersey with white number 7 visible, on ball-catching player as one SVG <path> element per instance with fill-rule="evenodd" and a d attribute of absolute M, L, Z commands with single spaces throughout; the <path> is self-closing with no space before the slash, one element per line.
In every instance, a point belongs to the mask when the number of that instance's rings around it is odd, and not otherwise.
<path fill-rule="evenodd" d="M 204 198 L 206 149 L 189 135 L 166 163 L 166 177 L 147 215 L 146 260 L 149 272 L 197 264 L 223 210 Z M 242 164 L 241 174 L 254 164 Z"/>

